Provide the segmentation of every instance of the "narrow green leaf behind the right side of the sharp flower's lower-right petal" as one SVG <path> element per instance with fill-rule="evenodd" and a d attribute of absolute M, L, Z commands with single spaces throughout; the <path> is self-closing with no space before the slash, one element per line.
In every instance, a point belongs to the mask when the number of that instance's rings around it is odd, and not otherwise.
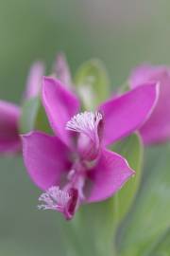
<path fill-rule="evenodd" d="M 144 149 L 141 137 L 133 134 L 114 144 L 112 150 L 123 155 L 129 166 L 136 172 L 134 177 L 130 178 L 127 184 L 116 194 L 117 221 L 121 222 L 133 202 L 141 181 Z"/>

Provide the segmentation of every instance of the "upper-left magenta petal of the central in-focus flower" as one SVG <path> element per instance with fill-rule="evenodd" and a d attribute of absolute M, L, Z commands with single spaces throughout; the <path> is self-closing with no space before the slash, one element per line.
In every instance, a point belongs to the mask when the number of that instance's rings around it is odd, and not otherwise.
<path fill-rule="evenodd" d="M 68 91 L 59 80 L 44 77 L 42 102 L 55 134 L 68 145 L 66 123 L 78 112 L 79 101 L 76 96 Z"/>

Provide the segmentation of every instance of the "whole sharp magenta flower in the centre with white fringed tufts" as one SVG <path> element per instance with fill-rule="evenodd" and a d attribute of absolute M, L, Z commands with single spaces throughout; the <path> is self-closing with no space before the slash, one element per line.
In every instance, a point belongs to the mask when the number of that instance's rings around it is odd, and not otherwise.
<path fill-rule="evenodd" d="M 71 219 L 81 203 L 105 200 L 134 174 L 127 160 L 106 147 L 134 132 L 157 101 L 157 85 L 140 86 L 79 113 L 76 95 L 58 80 L 44 78 L 42 103 L 55 136 L 23 136 L 26 169 L 44 191 L 40 209 L 59 210 Z"/>

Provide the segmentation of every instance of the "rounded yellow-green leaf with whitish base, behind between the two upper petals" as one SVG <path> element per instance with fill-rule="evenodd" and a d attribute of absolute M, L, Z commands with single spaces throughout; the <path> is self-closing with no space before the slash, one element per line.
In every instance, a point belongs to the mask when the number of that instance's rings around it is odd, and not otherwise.
<path fill-rule="evenodd" d="M 99 60 L 82 64 L 76 72 L 77 92 L 86 109 L 92 110 L 109 97 L 109 78 L 105 66 Z"/>

